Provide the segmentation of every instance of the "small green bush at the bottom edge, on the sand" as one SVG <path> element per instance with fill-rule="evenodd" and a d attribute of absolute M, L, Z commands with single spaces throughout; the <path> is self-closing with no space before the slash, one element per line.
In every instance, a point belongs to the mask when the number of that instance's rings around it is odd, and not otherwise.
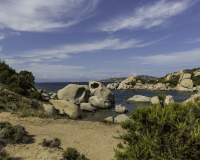
<path fill-rule="evenodd" d="M 74 148 L 67 148 L 63 153 L 63 158 L 61 160 L 89 160 L 85 158 L 84 155 L 80 155 L 78 151 Z"/>

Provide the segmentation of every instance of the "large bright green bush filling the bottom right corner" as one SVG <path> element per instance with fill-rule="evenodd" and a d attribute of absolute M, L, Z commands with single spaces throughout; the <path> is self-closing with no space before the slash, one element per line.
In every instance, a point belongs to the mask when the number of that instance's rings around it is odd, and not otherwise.
<path fill-rule="evenodd" d="M 115 150 L 117 160 L 199 159 L 200 102 L 138 107 L 131 115 L 134 122 L 121 123 L 128 146 Z"/>

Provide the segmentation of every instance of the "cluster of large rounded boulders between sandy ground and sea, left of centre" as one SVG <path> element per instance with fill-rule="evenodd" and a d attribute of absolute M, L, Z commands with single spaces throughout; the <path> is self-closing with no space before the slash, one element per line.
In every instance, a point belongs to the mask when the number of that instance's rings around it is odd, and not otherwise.
<path fill-rule="evenodd" d="M 50 114 L 66 114 L 70 118 L 82 118 L 81 110 L 95 112 L 96 108 L 110 108 L 115 103 L 114 94 L 103 84 L 90 81 L 89 85 L 69 84 L 57 93 L 38 90 L 42 99 L 49 101 L 44 109 Z"/>

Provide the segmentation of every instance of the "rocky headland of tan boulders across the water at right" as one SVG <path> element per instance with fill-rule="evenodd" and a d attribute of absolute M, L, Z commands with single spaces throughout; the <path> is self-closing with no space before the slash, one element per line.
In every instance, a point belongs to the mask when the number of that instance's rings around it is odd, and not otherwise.
<path fill-rule="evenodd" d="M 177 83 L 174 85 L 170 82 L 178 77 Z M 164 77 L 157 80 L 145 81 L 138 78 L 136 75 L 129 77 L 121 83 L 110 83 L 107 85 L 108 89 L 111 90 L 125 90 L 125 89 L 146 89 L 152 91 L 186 91 L 186 92 L 200 92 L 200 84 L 194 84 L 193 78 L 200 79 L 200 69 L 186 73 L 183 70 L 178 72 L 168 73 Z"/>

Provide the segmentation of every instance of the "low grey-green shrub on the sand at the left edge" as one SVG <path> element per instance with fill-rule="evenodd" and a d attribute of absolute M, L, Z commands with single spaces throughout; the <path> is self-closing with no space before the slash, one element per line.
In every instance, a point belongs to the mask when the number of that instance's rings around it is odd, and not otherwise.
<path fill-rule="evenodd" d="M 8 143 L 26 143 L 29 140 L 27 134 L 21 125 L 13 126 L 9 122 L 0 122 L 0 139 Z"/>

